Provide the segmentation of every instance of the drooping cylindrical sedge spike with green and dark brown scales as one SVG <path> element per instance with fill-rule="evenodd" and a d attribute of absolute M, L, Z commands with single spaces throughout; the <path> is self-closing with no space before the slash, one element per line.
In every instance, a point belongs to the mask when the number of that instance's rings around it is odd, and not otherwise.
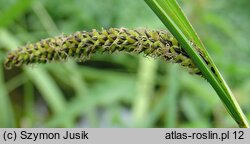
<path fill-rule="evenodd" d="M 10 52 L 5 60 L 5 67 L 10 69 L 13 66 L 63 61 L 68 58 L 83 61 L 96 52 L 115 51 L 144 53 L 154 58 L 162 58 L 165 61 L 179 63 L 187 67 L 191 73 L 200 75 L 200 71 L 169 32 L 125 28 L 81 31 L 28 44 Z"/>

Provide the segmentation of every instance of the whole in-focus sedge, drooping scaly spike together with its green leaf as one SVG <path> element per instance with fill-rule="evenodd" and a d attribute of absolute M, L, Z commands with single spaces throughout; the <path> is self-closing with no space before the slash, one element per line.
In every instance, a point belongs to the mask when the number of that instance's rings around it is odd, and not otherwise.
<path fill-rule="evenodd" d="M 65 61 L 69 58 L 84 61 L 95 53 L 144 53 L 146 56 L 178 63 L 190 73 L 204 77 L 239 127 L 248 127 L 232 92 L 178 3 L 175 0 L 145 1 L 172 34 L 166 30 L 126 28 L 79 31 L 43 39 L 10 51 L 5 67 L 11 69 L 13 66 Z"/>

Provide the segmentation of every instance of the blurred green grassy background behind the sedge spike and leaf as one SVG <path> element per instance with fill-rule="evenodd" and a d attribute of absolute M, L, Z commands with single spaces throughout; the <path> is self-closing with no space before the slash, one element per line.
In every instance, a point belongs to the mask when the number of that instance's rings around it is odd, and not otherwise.
<path fill-rule="evenodd" d="M 250 119 L 250 1 L 179 2 Z M 206 80 L 159 59 L 3 67 L 26 43 L 110 27 L 165 29 L 143 0 L 0 0 L 0 127 L 237 127 Z"/>

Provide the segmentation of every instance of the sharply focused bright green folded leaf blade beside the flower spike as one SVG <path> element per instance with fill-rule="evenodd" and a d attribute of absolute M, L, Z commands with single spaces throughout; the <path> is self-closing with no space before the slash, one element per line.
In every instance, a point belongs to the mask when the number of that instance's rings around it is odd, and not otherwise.
<path fill-rule="evenodd" d="M 181 11 L 178 3 L 175 0 L 145 0 L 145 2 L 176 37 L 204 77 L 213 86 L 228 112 L 238 125 L 240 127 L 249 127 L 247 119 L 235 100 L 231 90 L 223 80 L 198 35 L 188 22 L 184 13 Z M 199 52 L 192 43 L 199 48 Z M 203 58 L 200 56 L 200 53 L 203 55 Z M 208 65 L 203 59 L 208 62 Z"/>

